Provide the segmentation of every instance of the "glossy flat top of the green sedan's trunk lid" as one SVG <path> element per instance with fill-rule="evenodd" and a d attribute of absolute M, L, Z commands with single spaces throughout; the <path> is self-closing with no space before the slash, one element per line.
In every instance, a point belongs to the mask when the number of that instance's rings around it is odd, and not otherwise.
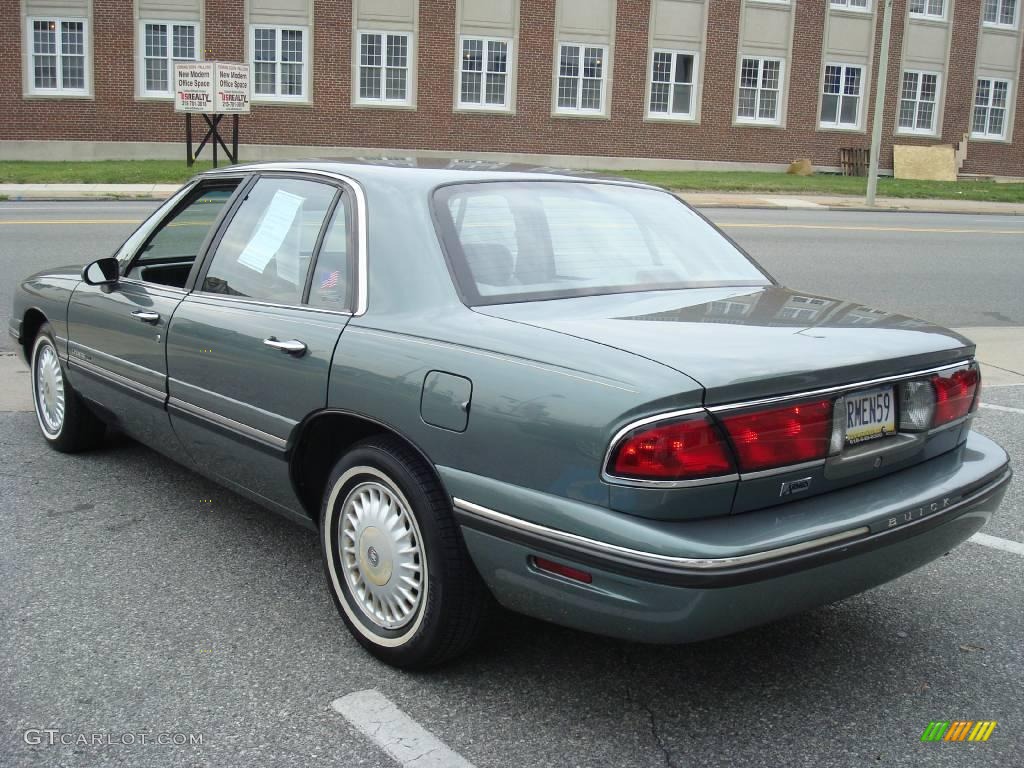
<path fill-rule="evenodd" d="M 699 382 L 708 404 L 962 360 L 974 344 L 925 321 L 779 286 L 709 288 L 477 307 L 623 349 Z"/>

